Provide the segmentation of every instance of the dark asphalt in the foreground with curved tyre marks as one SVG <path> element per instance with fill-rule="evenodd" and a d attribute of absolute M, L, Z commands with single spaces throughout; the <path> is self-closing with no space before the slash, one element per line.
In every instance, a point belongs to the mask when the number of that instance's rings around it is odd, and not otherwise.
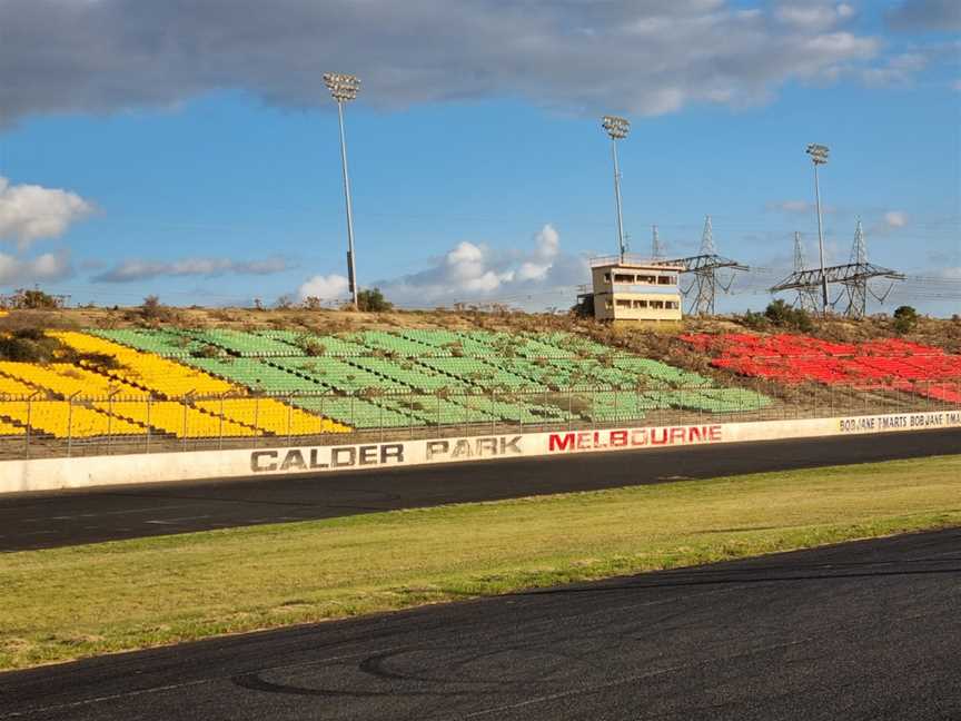
<path fill-rule="evenodd" d="M 0 720 L 961 719 L 961 530 L 0 674 Z"/>

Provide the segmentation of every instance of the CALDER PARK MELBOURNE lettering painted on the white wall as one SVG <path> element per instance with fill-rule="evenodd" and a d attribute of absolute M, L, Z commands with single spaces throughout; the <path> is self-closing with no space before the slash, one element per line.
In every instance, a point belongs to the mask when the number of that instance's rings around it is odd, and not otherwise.
<path fill-rule="evenodd" d="M 254 473 L 309 473 L 504 457 L 720 443 L 721 425 L 613 428 L 436 438 L 367 445 L 264 448 L 250 452 Z"/>

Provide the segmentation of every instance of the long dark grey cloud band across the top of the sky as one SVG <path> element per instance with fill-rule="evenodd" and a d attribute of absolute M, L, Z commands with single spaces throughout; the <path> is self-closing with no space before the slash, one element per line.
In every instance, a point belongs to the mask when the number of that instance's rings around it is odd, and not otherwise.
<path fill-rule="evenodd" d="M 171 107 L 240 89 L 286 107 L 329 107 L 318 77 L 347 68 L 361 101 L 519 97 L 594 115 L 734 107 L 792 80 L 838 77 L 879 53 L 836 31 L 848 3 L 795 0 L 3 0 L 0 126 L 37 113 Z M 618 72 L 611 72 L 616 58 Z"/>

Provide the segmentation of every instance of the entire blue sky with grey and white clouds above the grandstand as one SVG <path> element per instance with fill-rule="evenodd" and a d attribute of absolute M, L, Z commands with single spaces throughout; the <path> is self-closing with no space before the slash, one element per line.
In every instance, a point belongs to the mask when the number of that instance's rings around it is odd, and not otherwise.
<path fill-rule="evenodd" d="M 402 305 L 569 306 L 616 250 L 620 113 L 632 249 L 694 253 L 710 214 L 759 269 L 795 230 L 815 258 L 813 141 L 829 261 L 860 218 L 932 279 L 890 300 L 957 312 L 959 38 L 957 0 L 0 0 L 0 289 L 346 297 L 337 70 L 360 285 Z"/>

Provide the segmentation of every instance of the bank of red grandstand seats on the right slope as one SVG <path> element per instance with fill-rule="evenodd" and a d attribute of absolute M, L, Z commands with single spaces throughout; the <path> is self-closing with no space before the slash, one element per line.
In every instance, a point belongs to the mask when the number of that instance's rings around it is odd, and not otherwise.
<path fill-rule="evenodd" d="M 803 335 L 693 334 L 711 364 L 782 384 L 818 383 L 961 403 L 961 356 L 898 338 L 832 343 Z"/>

